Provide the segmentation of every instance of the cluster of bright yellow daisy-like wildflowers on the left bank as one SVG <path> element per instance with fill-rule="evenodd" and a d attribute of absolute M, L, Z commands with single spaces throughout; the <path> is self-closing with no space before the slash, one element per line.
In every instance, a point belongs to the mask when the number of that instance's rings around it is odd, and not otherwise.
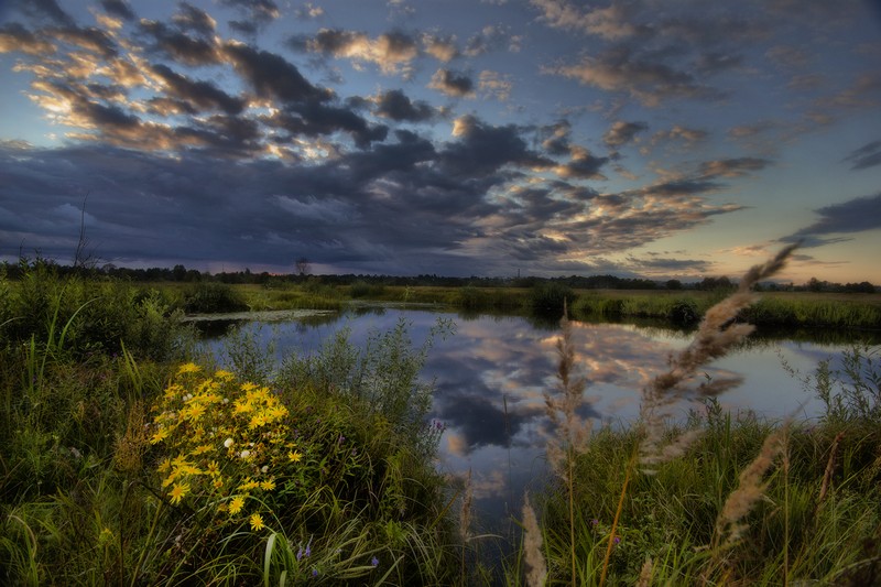
<path fill-rule="evenodd" d="M 171 455 L 159 465 L 171 503 L 193 499 L 197 508 L 215 508 L 222 523 L 247 520 L 262 530 L 254 504 L 270 501 L 304 457 L 278 395 L 229 371 L 208 376 L 186 363 L 155 412 L 150 443 Z"/>

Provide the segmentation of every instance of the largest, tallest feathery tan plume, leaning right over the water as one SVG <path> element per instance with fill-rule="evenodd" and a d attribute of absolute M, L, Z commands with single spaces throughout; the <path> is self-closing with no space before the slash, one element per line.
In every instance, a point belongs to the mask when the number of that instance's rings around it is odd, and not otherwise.
<path fill-rule="evenodd" d="M 664 417 L 668 409 L 688 391 L 686 384 L 698 369 L 713 359 L 722 357 L 728 350 L 742 341 L 753 330 L 750 324 L 738 324 L 736 318 L 741 309 L 752 304 L 757 296 L 751 289 L 759 281 L 770 278 L 785 265 L 786 259 L 798 244 L 790 244 L 769 261 L 753 265 L 740 280 L 733 294 L 726 297 L 704 316 L 695 338 L 687 348 L 671 357 L 670 369 L 655 377 L 642 393 L 640 415 L 645 427 L 645 439 L 640 448 L 642 465 L 657 465 L 684 454 L 697 434 L 664 446 Z M 708 380 L 697 387 L 701 396 L 715 396 L 740 383 L 740 379 Z M 645 472 L 651 472 L 646 470 Z"/>

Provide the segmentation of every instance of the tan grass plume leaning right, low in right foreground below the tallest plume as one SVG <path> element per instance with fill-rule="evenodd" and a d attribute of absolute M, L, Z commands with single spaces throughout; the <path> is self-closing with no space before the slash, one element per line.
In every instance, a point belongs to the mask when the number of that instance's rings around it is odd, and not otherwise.
<path fill-rule="evenodd" d="M 741 471 L 737 489 L 725 500 L 716 524 L 717 541 L 728 534 L 722 544 L 724 548 L 740 539 L 749 528 L 742 520 L 764 494 L 766 483 L 762 478 L 774 464 L 774 459 L 783 453 L 788 428 L 790 421 L 786 421 L 779 430 L 768 435 L 759 455 Z"/>

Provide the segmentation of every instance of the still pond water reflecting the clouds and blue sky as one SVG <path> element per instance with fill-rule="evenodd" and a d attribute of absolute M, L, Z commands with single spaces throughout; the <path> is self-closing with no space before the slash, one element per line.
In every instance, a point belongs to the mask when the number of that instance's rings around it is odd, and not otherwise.
<path fill-rule="evenodd" d="M 307 319 L 238 324 L 262 344 L 273 343 L 281 361 L 289 354 L 315 354 L 341 328 L 348 328 L 350 341 L 361 346 L 371 333 L 389 331 L 400 319 L 406 322 L 413 346 L 420 347 L 438 317 L 452 319 L 456 334 L 434 340 L 423 369 L 423 378 L 435 383 L 429 417 L 446 427 L 437 466 L 455 476 L 470 469 L 476 530 L 507 534 L 510 528 L 500 524 L 509 523 L 509 513 L 519 517 L 523 490 L 539 490 L 546 479 L 543 394 L 556 385 L 559 328 L 554 320 L 368 307 Z M 637 418 L 640 391 L 665 369 L 671 352 L 690 341 L 688 333 L 668 328 L 572 324 L 578 372 L 587 382 L 584 415 L 610 425 Z M 713 363 L 706 376 L 742 378 L 737 389 L 720 398 L 732 412 L 815 417 L 820 402 L 783 365 L 809 376 L 823 359 L 831 358 L 835 368 L 849 345 L 840 338 L 833 343 L 814 338 L 796 341 L 757 333 L 749 344 Z M 222 352 L 222 337 L 211 336 L 206 344 Z M 683 405 L 683 418 L 689 407 L 698 406 Z"/>

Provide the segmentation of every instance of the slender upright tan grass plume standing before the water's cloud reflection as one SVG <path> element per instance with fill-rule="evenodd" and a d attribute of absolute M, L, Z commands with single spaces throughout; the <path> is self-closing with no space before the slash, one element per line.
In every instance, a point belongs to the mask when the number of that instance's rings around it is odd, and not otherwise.
<path fill-rule="evenodd" d="M 547 460 L 554 472 L 563 479 L 568 479 L 566 464 L 569 452 L 584 453 L 590 437 L 590 421 L 583 421 L 578 415 L 578 407 L 584 401 L 586 382 L 583 377 L 575 376 L 575 346 L 572 341 L 572 324 L 567 316 L 566 306 L 563 307 L 563 318 L 559 320 L 561 336 L 557 339 L 557 379 L 559 393 L 552 395 L 544 393 L 545 412 L 551 423 L 556 427 L 556 435 L 547 441 Z"/>

